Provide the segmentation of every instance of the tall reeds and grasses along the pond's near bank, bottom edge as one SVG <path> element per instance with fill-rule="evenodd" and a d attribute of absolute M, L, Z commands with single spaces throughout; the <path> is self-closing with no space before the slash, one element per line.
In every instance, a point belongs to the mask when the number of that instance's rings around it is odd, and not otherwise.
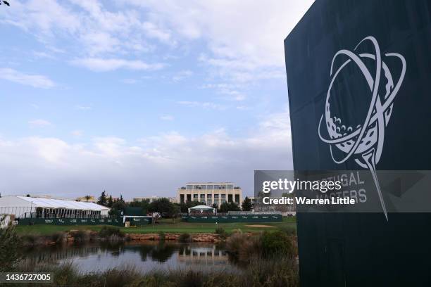
<path fill-rule="evenodd" d="M 255 236 L 254 239 L 259 238 Z M 154 269 L 142 273 L 133 265 L 108 269 L 104 272 L 80 272 L 73 262 L 58 266 L 46 265 L 42 269 L 23 269 L 28 272 L 54 273 L 56 286 L 92 287 L 293 287 L 299 285 L 298 264 L 296 260 L 280 257 L 277 260 L 252 260 L 242 271 L 208 272 L 193 269 Z"/>

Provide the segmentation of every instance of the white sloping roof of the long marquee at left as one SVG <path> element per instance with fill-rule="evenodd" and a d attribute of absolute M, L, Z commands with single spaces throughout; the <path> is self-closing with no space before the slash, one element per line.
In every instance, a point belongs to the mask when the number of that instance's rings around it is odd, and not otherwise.
<path fill-rule="evenodd" d="M 28 203 L 35 207 L 40 208 L 65 208 L 72 210 L 109 210 L 105 206 L 98 205 L 96 203 L 84 203 L 73 200 L 61 200 L 52 198 L 35 198 L 27 196 L 17 196 L 22 200 L 26 200 Z"/>

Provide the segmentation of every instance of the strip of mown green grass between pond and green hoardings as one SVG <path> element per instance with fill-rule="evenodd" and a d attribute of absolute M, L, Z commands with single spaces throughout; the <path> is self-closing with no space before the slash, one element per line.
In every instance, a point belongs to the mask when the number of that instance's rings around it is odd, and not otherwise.
<path fill-rule="evenodd" d="M 265 226 L 265 227 L 263 227 Z M 16 231 L 20 236 L 32 234 L 35 236 L 49 236 L 59 231 L 74 230 L 91 230 L 100 231 L 102 225 L 47 225 L 47 224 L 35 224 L 31 226 L 18 225 Z M 162 219 L 159 224 L 150 224 L 145 227 L 130 227 L 120 228 L 124 233 L 211 233 L 216 228 L 222 227 L 225 231 L 230 234 L 233 231 L 240 229 L 243 232 L 258 233 L 261 231 L 277 231 L 282 229 L 296 229 L 296 218 L 285 217 L 282 222 L 270 222 L 270 223 L 253 223 L 253 222 L 236 222 L 236 223 L 187 223 L 187 222 L 172 222 L 172 219 Z"/>

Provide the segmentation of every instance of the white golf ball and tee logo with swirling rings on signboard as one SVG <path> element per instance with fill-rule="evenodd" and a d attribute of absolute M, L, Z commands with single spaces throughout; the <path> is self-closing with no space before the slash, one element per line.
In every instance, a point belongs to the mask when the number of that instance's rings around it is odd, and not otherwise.
<path fill-rule="evenodd" d="M 374 53 L 357 53 L 358 47 L 365 42 L 370 42 L 374 48 Z M 346 56 L 347 59 L 342 65 L 335 70 L 335 59 L 339 56 Z M 389 70 L 385 60 L 388 58 L 398 59 L 400 65 L 399 77 L 394 81 L 391 70 Z M 375 70 L 368 70 L 364 60 L 373 61 Z M 361 70 L 363 77 L 365 77 L 370 89 L 371 101 L 365 119 L 361 125 L 351 127 L 342 122 L 342 119 L 331 114 L 330 97 L 332 85 L 337 79 L 339 72 L 341 72 L 346 65 L 356 65 Z M 391 118 L 392 109 L 394 108 L 394 98 L 401 87 L 401 84 L 406 74 L 406 60 L 399 53 L 380 53 L 380 47 L 377 40 L 372 37 L 366 37 L 359 42 L 353 51 L 342 49 L 335 53 L 331 63 L 331 82 L 327 89 L 325 101 L 325 113 L 320 117 L 318 134 L 320 139 L 330 145 L 330 153 L 332 160 L 335 163 L 341 164 L 349 158 L 354 158 L 355 162 L 363 168 L 370 170 L 373 175 L 375 187 L 377 189 L 382 210 L 387 218 L 387 211 L 385 207 L 385 200 L 380 190 L 380 184 L 377 179 L 375 166 L 379 162 L 382 155 L 383 142 L 385 139 L 385 127 L 388 125 Z M 373 77 L 374 76 L 374 77 Z M 387 82 L 382 82 L 385 86 L 382 88 L 381 79 L 385 77 Z M 379 89 L 380 87 L 380 89 Z M 383 92 L 382 92 L 383 91 Z M 379 94 L 380 93 L 380 94 Z M 383 95 L 384 93 L 384 95 Z M 355 113 L 355 111 L 352 111 Z M 327 129 L 328 137 L 320 133 L 321 125 L 325 118 L 325 127 Z M 342 151 L 342 158 L 335 158 L 334 148 Z"/>

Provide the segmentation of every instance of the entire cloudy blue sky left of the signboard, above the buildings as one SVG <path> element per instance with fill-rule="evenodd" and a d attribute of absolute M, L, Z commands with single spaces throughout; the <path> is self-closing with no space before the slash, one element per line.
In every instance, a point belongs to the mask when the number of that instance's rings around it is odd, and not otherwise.
<path fill-rule="evenodd" d="M 283 39 L 311 1 L 10 1 L 2 194 L 174 196 L 292 168 Z"/>

